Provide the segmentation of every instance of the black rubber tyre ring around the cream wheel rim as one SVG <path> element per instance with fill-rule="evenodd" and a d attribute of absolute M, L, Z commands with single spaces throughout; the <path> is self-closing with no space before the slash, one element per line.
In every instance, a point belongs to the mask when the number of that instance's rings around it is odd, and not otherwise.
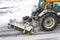
<path fill-rule="evenodd" d="M 55 20 L 54 26 L 53 26 L 52 28 L 50 28 L 50 29 L 46 28 L 46 27 L 43 25 L 44 20 L 45 20 L 47 17 L 53 17 L 54 20 Z M 40 24 L 40 29 L 41 29 L 41 30 L 44 30 L 44 31 L 52 31 L 52 30 L 54 30 L 54 29 L 56 28 L 56 26 L 57 26 L 57 16 L 56 16 L 55 14 L 53 14 L 53 13 L 47 13 L 47 14 L 43 15 L 41 18 L 39 18 L 39 24 Z"/>

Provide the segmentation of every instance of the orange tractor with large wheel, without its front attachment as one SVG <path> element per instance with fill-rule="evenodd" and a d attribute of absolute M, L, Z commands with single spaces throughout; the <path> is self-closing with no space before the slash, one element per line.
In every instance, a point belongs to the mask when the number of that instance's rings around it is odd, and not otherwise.
<path fill-rule="evenodd" d="M 38 19 L 41 30 L 54 30 L 60 18 L 60 0 L 39 0 L 32 10 L 32 18 Z"/>

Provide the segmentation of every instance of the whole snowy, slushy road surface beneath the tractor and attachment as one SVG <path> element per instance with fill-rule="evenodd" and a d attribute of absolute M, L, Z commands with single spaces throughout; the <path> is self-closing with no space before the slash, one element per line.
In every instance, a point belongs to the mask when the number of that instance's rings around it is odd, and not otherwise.
<path fill-rule="evenodd" d="M 6 29 L 4 27 L 2 28 L 4 30 Z M 58 24 L 57 28 L 54 31 L 40 31 L 33 35 L 22 34 L 21 32 L 14 29 L 6 29 L 9 32 L 7 31 L 8 33 L 6 35 L 3 35 L 4 32 L 2 32 L 1 35 L 1 30 L 2 29 L 0 28 L 0 40 L 60 40 L 60 24 Z"/>

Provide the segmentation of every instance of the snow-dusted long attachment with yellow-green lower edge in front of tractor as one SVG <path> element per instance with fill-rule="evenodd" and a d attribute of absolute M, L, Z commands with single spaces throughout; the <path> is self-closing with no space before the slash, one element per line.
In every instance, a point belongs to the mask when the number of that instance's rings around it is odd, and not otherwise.
<path fill-rule="evenodd" d="M 10 22 L 8 23 L 8 28 L 13 28 L 15 30 L 22 31 L 22 33 L 27 33 L 29 35 L 32 34 L 32 26 L 26 26 L 26 24 L 18 23 L 18 22 Z"/>

